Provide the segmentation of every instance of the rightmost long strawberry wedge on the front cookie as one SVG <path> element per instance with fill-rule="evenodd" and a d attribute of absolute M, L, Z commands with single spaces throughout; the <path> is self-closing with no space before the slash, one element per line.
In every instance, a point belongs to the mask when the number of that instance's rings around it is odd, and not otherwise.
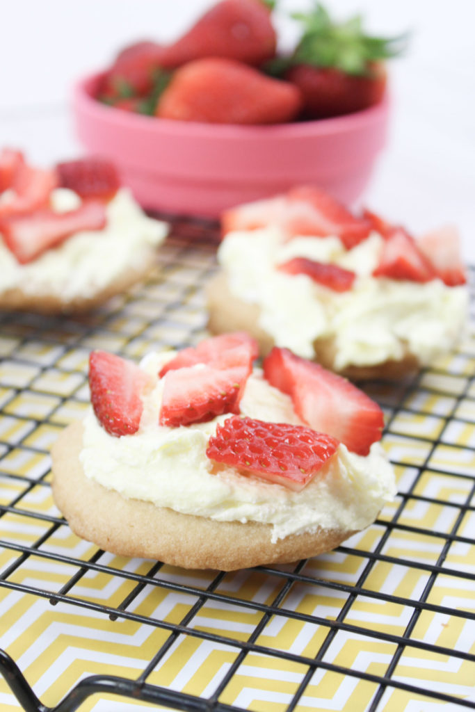
<path fill-rule="evenodd" d="M 338 438 L 358 455 L 367 455 L 380 440 L 382 410 L 345 378 L 277 347 L 263 370 L 271 385 L 291 396 L 298 417 L 310 428 Z"/>

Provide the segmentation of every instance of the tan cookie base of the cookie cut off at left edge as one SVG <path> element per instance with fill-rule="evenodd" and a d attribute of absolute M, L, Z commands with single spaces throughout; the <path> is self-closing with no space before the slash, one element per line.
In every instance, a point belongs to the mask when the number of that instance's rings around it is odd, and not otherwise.
<path fill-rule="evenodd" d="M 150 253 L 147 264 L 141 269 L 127 269 L 113 282 L 92 296 L 77 296 L 69 300 L 57 294 L 32 294 L 20 288 L 7 289 L 0 293 L 0 309 L 27 311 L 44 315 L 78 314 L 95 309 L 108 299 L 127 291 L 136 283 L 145 280 L 155 265 L 155 253 Z"/>

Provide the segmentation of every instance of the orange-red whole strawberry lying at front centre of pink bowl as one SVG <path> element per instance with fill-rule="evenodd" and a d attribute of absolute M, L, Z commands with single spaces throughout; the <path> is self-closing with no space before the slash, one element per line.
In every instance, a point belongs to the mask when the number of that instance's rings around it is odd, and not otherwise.
<path fill-rule="evenodd" d="M 219 124 L 291 121 L 301 105 L 298 89 L 231 59 L 189 62 L 175 71 L 155 115 Z"/>

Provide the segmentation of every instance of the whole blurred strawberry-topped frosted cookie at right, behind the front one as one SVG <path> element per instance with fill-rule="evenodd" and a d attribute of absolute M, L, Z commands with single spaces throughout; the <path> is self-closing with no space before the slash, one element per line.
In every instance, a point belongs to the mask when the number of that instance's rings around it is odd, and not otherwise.
<path fill-rule="evenodd" d="M 453 227 L 416 239 L 310 186 L 221 219 L 209 330 L 245 329 L 349 377 L 402 377 L 464 333 L 466 271 Z"/>

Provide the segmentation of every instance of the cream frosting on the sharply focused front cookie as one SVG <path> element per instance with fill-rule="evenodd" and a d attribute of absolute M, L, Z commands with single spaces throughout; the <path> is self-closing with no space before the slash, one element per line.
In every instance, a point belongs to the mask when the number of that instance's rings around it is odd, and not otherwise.
<path fill-rule="evenodd" d="M 142 360 L 142 369 L 156 376 L 172 355 L 151 354 Z M 134 435 L 110 436 L 90 409 L 80 454 L 85 476 L 127 498 L 180 513 L 270 524 L 274 543 L 320 527 L 360 530 L 395 496 L 392 466 L 379 443 L 365 457 L 340 444 L 300 492 L 216 464 L 206 455 L 207 443 L 216 425 L 231 414 L 190 426 L 159 426 L 162 386 L 159 380 L 143 397 L 140 429 Z M 259 369 L 247 381 L 241 413 L 269 422 L 301 423 L 291 398 L 268 384 Z"/>

